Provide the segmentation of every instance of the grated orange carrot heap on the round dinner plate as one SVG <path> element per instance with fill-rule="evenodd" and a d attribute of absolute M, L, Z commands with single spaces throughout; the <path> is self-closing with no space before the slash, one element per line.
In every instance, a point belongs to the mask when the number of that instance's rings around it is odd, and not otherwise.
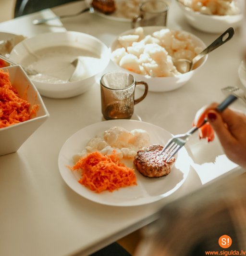
<path fill-rule="evenodd" d="M 134 169 L 120 163 L 117 154 L 103 155 L 96 151 L 80 158 L 71 169 L 81 169 L 82 178 L 78 182 L 97 193 L 136 185 Z"/>

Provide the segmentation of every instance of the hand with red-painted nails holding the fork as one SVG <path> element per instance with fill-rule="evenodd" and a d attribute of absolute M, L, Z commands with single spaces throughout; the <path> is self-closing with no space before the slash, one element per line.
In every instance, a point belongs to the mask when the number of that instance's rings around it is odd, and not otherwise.
<path fill-rule="evenodd" d="M 212 103 L 197 112 L 195 126 L 200 126 L 204 118 L 209 121 L 199 128 L 199 137 L 212 141 L 215 131 L 227 157 L 246 168 L 246 115 L 229 108 L 219 113 L 217 106 Z"/>

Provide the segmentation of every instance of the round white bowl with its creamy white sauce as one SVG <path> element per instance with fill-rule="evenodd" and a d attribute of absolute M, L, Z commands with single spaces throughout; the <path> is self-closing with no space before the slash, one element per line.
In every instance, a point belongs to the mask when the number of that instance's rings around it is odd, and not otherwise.
<path fill-rule="evenodd" d="M 25 39 L 13 48 L 10 58 L 34 71 L 30 79 L 41 95 L 51 98 L 69 98 L 85 92 L 110 62 L 104 43 L 74 31 Z"/>

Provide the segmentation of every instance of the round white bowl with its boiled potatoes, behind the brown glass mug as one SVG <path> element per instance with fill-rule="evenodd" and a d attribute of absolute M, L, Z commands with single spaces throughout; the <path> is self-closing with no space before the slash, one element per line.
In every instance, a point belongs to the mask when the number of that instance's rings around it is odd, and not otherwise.
<path fill-rule="evenodd" d="M 183 86 L 206 62 L 197 62 L 194 70 L 177 71 L 173 61 L 192 60 L 206 48 L 191 33 L 162 26 L 145 26 L 122 33 L 111 44 L 111 60 L 117 68 L 128 70 L 136 80 L 148 83 L 149 91 L 170 91 Z"/>

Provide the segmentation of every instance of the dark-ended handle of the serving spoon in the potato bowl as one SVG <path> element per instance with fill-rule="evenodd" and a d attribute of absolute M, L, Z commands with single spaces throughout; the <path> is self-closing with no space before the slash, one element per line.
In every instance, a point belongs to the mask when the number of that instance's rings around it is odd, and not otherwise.
<path fill-rule="evenodd" d="M 202 52 L 200 52 L 192 61 L 192 67 L 193 65 L 199 61 L 202 57 L 204 57 L 206 54 L 208 54 L 210 51 L 213 51 L 214 49 L 218 48 L 222 44 L 229 41 L 234 36 L 234 28 L 229 27 L 221 36 L 219 36 L 217 39 L 215 39 L 206 49 L 204 49 Z M 227 35 L 227 37 L 226 37 Z M 192 69 L 191 67 L 191 69 Z"/>

